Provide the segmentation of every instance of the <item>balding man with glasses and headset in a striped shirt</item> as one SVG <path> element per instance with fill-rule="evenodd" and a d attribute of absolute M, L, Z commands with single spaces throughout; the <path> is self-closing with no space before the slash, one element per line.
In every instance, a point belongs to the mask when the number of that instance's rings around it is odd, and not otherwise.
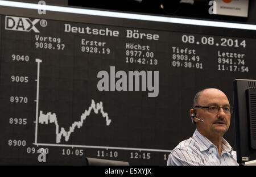
<path fill-rule="evenodd" d="M 222 138 L 232 112 L 224 92 L 216 88 L 198 92 L 189 111 L 197 129 L 172 150 L 167 165 L 238 165 L 236 151 Z"/>

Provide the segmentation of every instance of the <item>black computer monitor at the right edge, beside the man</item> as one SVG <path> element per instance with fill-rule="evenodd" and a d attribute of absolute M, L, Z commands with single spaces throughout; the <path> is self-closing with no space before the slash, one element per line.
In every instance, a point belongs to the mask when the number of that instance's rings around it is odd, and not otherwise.
<path fill-rule="evenodd" d="M 235 79 L 234 116 L 237 162 L 256 159 L 256 80 Z"/>

